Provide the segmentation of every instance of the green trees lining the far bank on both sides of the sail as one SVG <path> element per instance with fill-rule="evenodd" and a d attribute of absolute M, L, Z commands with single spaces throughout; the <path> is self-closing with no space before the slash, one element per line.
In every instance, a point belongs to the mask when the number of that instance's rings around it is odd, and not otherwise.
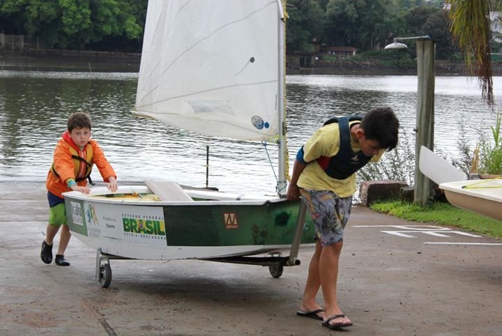
<path fill-rule="evenodd" d="M 0 0 L 0 30 L 38 38 L 56 48 L 141 49 L 148 0 Z M 215 1 L 218 2 L 218 1 Z M 382 49 L 395 36 L 432 34 L 436 57 L 452 45 L 441 1 L 287 0 L 287 49 L 314 52 L 321 45 Z M 449 43 L 449 44 L 448 44 Z M 415 66 L 408 56 L 388 66 Z M 380 62 L 380 61 L 379 61 Z"/>

